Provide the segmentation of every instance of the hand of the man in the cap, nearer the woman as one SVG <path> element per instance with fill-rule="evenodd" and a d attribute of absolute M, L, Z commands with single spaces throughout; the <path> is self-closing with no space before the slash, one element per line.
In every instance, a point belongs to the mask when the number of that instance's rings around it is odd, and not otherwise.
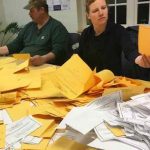
<path fill-rule="evenodd" d="M 30 58 L 30 63 L 33 66 L 40 66 L 40 65 L 43 65 L 45 63 L 45 58 L 43 56 L 40 56 L 40 55 L 35 55 L 35 56 Z"/>

